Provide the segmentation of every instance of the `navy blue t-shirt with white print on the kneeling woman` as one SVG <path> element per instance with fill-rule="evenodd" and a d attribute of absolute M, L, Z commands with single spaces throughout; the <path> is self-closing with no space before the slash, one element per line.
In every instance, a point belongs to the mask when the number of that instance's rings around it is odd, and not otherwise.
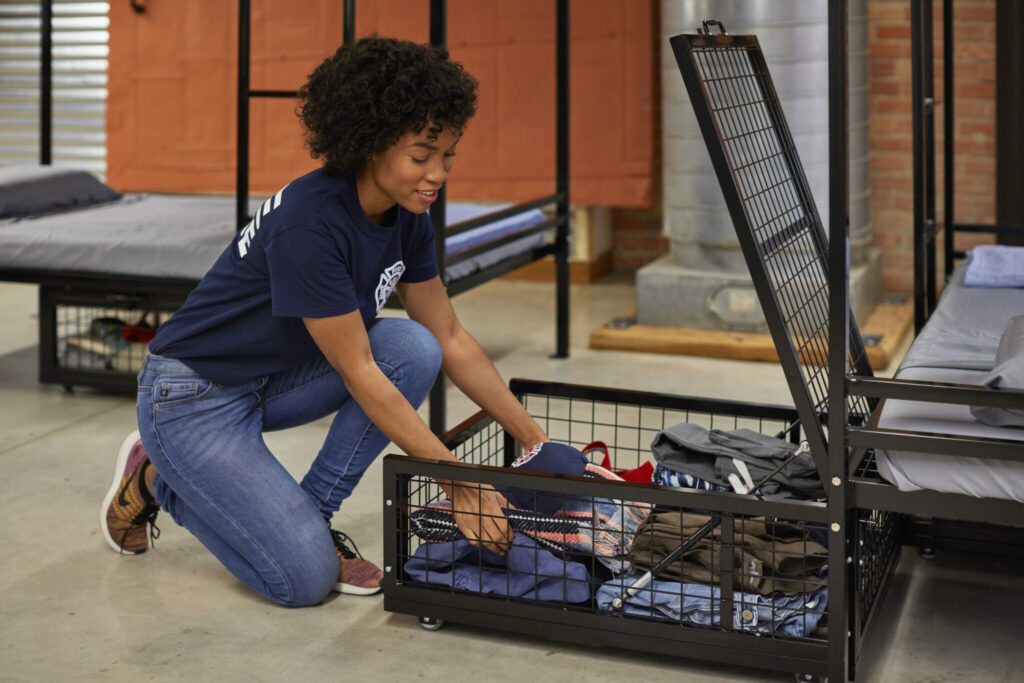
<path fill-rule="evenodd" d="M 160 326 L 153 353 L 237 385 L 322 355 L 303 317 L 358 309 L 369 327 L 396 283 L 437 274 L 426 214 L 371 221 L 355 182 L 316 170 L 268 199 Z"/>

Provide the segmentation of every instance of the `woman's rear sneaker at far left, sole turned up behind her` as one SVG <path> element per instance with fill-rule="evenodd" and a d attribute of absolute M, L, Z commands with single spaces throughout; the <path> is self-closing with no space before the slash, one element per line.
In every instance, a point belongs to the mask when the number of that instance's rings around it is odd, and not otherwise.
<path fill-rule="evenodd" d="M 111 548 L 125 555 L 144 553 L 150 549 L 151 540 L 160 536 L 160 529 L 154 524 L 160 506 L 141 488 L 145 485 L 143 477 L 148 464 L 138 432 L 132 432 L 121 443 L 114 466 L 114 481 L 99 508 L 103 538 Z"/>

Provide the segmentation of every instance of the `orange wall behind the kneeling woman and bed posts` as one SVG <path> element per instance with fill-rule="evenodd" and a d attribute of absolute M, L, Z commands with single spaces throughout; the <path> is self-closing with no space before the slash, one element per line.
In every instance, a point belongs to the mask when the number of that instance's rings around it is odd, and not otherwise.
<path fill-rule="evenodd" d="M 296 8 L 301 5 L 302 11 Z M 656 70 L 653 0 L 570 10 L 571 201 L 650 207 Z M 450 179 L 456 199 L 554 189 L 553 0 L 450 0 L 449 47 L 480 82 Z M 253 0 L 252 87 L 295 89 L 341 42 L 340 0 Z M 111 6 L 108 182 L 124 191 L 234 187 L 238 7 L 233 0 Z M 426 0 L 358 0 L 356 35 L 428 40 Z M 273 191 L 316 166 L 295 102 L 253 99 L 250 184 Z"/>

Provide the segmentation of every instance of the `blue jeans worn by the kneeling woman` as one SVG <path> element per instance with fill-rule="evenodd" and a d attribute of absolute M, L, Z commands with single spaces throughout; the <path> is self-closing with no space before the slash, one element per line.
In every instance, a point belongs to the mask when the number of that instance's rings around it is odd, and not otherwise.
<path fill-rule="evenodd" d="M 404 318 L 368 331 L 378 367 L 414 407 L 440 368 L 437 340 Z M 336 413 L 302 483 L 263 432 Z M 288 606 L 322 601 L 338 581 L 329 520 L 388 443 L 324 358 L 239 386 L 150 355 L 138 375 L 138 425 L 157 468 L 154 496 L 243 583 Z"/>

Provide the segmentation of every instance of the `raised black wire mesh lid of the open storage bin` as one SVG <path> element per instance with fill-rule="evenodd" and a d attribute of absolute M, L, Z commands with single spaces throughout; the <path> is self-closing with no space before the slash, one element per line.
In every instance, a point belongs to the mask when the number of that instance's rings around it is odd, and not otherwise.
<path fill-rule="evenodd" d="M 829 392 L 827 240 L 761 46 L 727 35 L 676 36 L 672 46 L 794 401 L 807 424 L 820 424 Z M 870 376 L 849 316 L 851 366 Z M 871 408 L 848 398 L 856 423 Z"/>

